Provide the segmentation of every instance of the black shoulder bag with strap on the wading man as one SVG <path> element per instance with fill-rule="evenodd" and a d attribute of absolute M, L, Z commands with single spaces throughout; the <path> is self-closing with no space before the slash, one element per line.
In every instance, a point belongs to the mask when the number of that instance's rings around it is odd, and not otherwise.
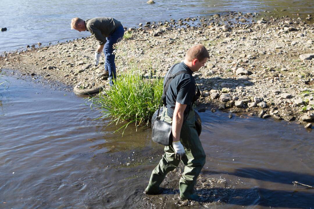
<path fill-rule="evenodd" d="M 175 64 L 175 65 L 177 65 L 177 64 Z M 154 123 L 153 131 L 152 131 L 152 140 L 154 142 L 156 142 L 158 144 L 162 144 L 164 146 L 169 146 L 172 143 L 172 123 L 167 123 L 165 121 L 160 120 L 159 112 L 160 112 L 161 102 L 163 102 L 163 104 L 166 105 L 166 92 L 168 90 L 168 87 L 169 87 L 171 81 L 174 79 L 174 77 L 177 75 L 183 74 L 183 73 L 189 73 L 188 71 L 183 70 L 183 71 L 179 71 L 179 72 L 176 72 L 174 74 L 171 74 L 175 65 L 173 65 L 171 67 L 170 71 L 168 72 L 168 74 L 166 76 L 164 91 L 163 91 L 163 94 L 162 94 L 162 97 L 161 97 L 161 100 L 159 103 L 158 113 L 157 113 L 156 121 Z M 195 85 L 196 85 L 196 83 L 195 83 Z M 196 85 L 196 87 L 198 89 L 197 85 Z M 193 103 L 199 98 L 200 95 L 201 95 L 201 92 L 198 89 L 197 94 L 193 98 L 193 102 L 191 104 L 191 109 L 192 109 Z M 189 111 L 191 111 L 191 109 Z M 185 120 L 185 118 L 184 118 L 184 120 Z M 183 123 L 184 123 L 184 120 L 183 120 Z"/>

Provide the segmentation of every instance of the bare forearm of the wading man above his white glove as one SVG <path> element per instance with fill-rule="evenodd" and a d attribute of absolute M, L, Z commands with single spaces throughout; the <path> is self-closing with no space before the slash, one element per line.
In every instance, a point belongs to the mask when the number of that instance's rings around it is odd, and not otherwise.
<path fill-rule="evenodd" d="M 179 102 L 176 102 L 176 107 L 172 117 L 172 136 L 174 142 L 180 140 L 180 132 L 183 123 L 183 113 L 186 107 L 186 104 L 180 104 Z"/>

